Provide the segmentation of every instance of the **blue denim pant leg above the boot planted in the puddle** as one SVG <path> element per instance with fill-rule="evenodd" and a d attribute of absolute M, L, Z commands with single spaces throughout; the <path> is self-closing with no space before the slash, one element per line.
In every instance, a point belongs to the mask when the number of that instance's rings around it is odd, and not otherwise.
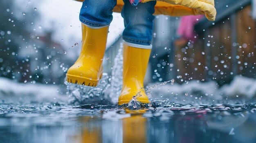
<path fill-rule="evenodd" d="M 132 6 L 129 0 L 124 0 L 121 15 L 124 18 L 123 39 L 126 42 L 139 45 L 151 44 L 155 4 L 156 1 L 150 1 Z"/>

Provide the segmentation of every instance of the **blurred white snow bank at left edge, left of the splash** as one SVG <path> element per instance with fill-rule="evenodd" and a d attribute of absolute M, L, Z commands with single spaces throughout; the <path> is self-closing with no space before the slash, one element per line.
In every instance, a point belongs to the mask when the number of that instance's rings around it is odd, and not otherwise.
<path fill-rule="evenodd" d="M 59 86 L 47 84 L 18 83 L 11 79 L 0 77 L 0 97 L 2 100 L 35 102 L 67 101 L 67 96 L 61 95 Z"/>

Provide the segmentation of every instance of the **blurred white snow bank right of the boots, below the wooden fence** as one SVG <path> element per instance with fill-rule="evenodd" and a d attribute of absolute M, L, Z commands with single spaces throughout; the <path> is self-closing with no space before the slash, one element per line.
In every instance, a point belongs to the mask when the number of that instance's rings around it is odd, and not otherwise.
<path fill-rule="evenodd" d="M 150 86 L 154 84 L 150 84 Z M 224 97 L 229 99 L 237 97 L 252 99 L 256 97 L 256 79 L 237 75 L 230 84 L 220 88 L 215 81 L 200 82 L 193 80 L 181 85 L 166 84 L 153 89 L 150 98 L 160 99 L 159 96 L 161 95 L 162 99 L 175 97 L 182 100 L 186 100 L 188 97 L 195 99 L 207 97 L 212 100 L 221 100 Z"/>

